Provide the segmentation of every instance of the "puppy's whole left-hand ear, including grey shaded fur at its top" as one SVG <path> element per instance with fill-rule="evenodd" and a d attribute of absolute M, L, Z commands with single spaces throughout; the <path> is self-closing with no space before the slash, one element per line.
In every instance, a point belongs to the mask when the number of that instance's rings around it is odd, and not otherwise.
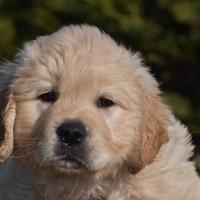
<path fill-rule="evenodd" d="M 20 52 L 14 62 L 0 66 L 0 163 L 5 161 L 13 150 L 13 127 L 15 121 L 15 101 L 11 92 L 16 69 L 20 63 Z"/>

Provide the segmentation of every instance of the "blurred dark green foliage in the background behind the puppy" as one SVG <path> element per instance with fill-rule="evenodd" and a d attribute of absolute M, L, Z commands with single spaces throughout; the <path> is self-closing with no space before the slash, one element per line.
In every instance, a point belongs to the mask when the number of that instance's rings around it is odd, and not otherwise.
<path fill-rule="evenodd" d="M 71 23 L 94 24 L 139 50 L 175 114 L 200 131 L 199 0 L 0 0 L 0 58 Z"/>

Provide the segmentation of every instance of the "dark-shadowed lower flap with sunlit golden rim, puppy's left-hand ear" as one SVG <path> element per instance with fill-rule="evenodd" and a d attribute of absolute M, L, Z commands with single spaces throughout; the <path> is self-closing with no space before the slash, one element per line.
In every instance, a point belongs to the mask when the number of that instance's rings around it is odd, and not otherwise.
<path fill-rule="evenodd" d="M 13 126 L 15 101 L 12 94 L 3 92 L 0 97 L 0 163 L 5 161 L 13 150 Z"/>

